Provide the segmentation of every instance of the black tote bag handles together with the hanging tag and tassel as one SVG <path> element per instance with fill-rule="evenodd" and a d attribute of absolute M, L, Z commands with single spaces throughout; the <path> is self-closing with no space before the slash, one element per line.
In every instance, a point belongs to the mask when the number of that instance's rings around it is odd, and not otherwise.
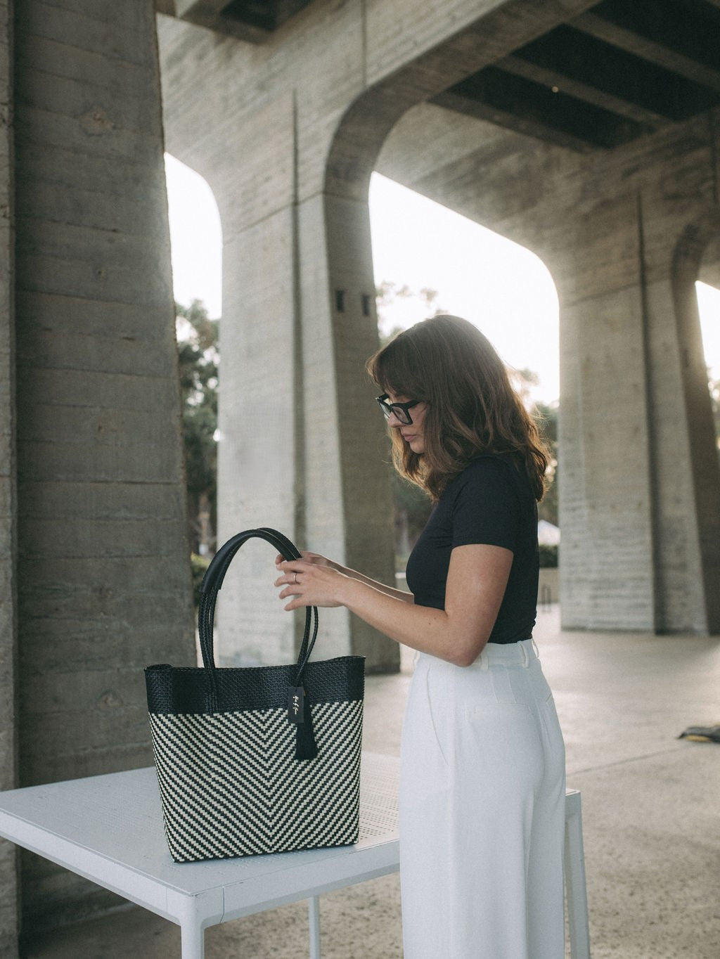
<path fill-rule="evenodd" d="M 227 568 L 233 561 L 235 554 L 247 540 L 253 538 L 266 540 L 266 542 L 278 550 L 286 560 L 301 558 L 300 550 L 297 549 L 288 537 L 278 532 L 277 529 L 272 529 L 269 526 L 261 526 L 258 529 L 245 529 L 244 532 L 237 533 L 227 540 L 226 543 L 223 543 L 220 550 L 213 556 L 210 565 L 205 571 L 205 575 L 202 577 L 202 584 L 200 586 L 201 599 L 199 609 L 197 610 L 200 653 L 202 654 L 202 665 L 205 667 L 208 677 L 208 706 L 212 713 L 217 711 L 218 706 L 218 667 L 215 665 L 215 650 L 213 646 L 215 604 L 222 586 L 222 580 L 225 578 Z M 312 637 L 311 624 L 313 625 Z M 300 645 L 300 651 L 297 655 L 295 685 L 294 687 L 290 687 L 289 690 L 289 719 L 290 722 L 297 724 L 297 759 L 314 759 L 314 756 L 317 754 L 317 747 L 314 743 L 310 704 L 302 686 L 302 677 L 310 655 L 313 652 L 315 640 L 317 639 L 318 624 L 317 607 L 306 607 L 305 631 L 303 641 Z M 294 709 L 293 696 L 295 697 Z M 300 704 L 299 709 L 298 703 Z"/>

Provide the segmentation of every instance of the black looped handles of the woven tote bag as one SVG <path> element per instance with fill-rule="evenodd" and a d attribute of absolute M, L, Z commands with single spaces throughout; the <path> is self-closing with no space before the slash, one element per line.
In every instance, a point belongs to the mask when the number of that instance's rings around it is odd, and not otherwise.
<path fill-rule="evenodd" d="M 242 533 L 237 533 L 231 539 L 223 543 L 220 550 L 205 571 L 200 586 L 200 605 L 197 610 L 197 630 L 199 633 L 200 653 L 202 654 L 202 665 L 208 674 L 209 681 L 209 705 L 211 711 L 217 709 L 218 703 L 218 676 L 215 665 L 215 650 L 213 647 L 213 625 L 215 622 L 215 603 L 218 598 L 218 592 L 222 586 L 222 580 L 227 573 L 227 568 L 232 562 L 235 554 L 249 539 L 263 539 L 273 546 L 286 560 L 301 559 L 300 550 L 290 542 L 287 536 L 271 529 L 269 526 L 261 526 L 259 529 L 245 529 Z M 311 637 L 311 624 L 313 626 L 313 635 Z M 296 672 L 294 678 L 294 689 L 302 688 L 302 677 L 307 666 L 310 655 L 313 652 L 313 646 L 317 638 L 318 618 L 317 608 L 308 606 L 305 611 L 305 632 L 303 641 L 300 645 L 300 651 L 297 656 Z M 303 711 L 304 713 L 305 711 Z M 300 716 L 302 721 L 302 713 Z"/>

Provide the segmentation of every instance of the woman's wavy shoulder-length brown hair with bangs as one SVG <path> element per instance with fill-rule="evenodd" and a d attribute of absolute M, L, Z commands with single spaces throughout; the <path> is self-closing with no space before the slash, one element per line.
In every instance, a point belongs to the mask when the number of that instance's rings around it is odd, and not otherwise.
<path fill-rule="evenodd" d="M 425 452 L 413 453 L 392 430 L 395 468 L 438 500 L 474 456 L 507 454 L 527 475 L 536 500 L 545 492 L 548 456 L 495 348 L 459 316 L 432 316 L 399 333 L 367 362 L 385 392 L 428 404 Z M 412 412 L 410 412 L 412 415 Z"/>

